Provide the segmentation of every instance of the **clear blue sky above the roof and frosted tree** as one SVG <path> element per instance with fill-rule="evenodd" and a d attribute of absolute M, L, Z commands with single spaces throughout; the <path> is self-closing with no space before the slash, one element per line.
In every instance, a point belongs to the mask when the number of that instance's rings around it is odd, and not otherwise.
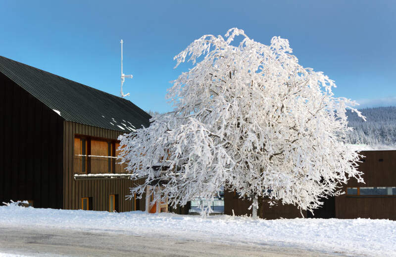
<path fill-rule="evenodd" d="M 244 2 L 244 3 L 242 3 Z M 361 107 L 396 105 L 396 1 L 7 1 L 0 0 L 0 55 L 169 111 L 173 57 L 203 34 L 244 29 L 269 44 L 290 41 L 300 64 L 336 81 Z"/>

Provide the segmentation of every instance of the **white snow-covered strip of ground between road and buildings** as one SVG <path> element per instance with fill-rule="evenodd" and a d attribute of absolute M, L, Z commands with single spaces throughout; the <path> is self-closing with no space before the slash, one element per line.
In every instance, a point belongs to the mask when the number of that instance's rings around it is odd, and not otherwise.
<path fill-rule="evenodd" d="M 340 219 L 252 220 L 142 211 L 55 210 L 1 206 L 0 225 L 172 236 L 225 244 L 274 245 L 348 256 L 396 256 L 396 221 Z M 1 247 L 0 247 L 1 253 Z"/>

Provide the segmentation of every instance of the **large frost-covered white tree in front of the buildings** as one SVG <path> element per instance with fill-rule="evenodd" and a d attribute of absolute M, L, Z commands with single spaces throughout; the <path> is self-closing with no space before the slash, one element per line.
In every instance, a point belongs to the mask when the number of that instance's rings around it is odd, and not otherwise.
<path fill-rule="evenodd" d="M 128 171 L 146 178 L 131 195 L 165 183 L 161 195 L 184 205 L 224 186 L 252 199 L 256 217 L 263 197 L 312 210 L 350 177 L 363 181 L 360 156 L 344 143 L 346 108 L 360 115 L 356 103 L 335 97 L 334 81 L 291 53 L 287 39 L 267 46 L 233 28 L 177 55 L 176 66 L 190 57 L 193 68 L 168 90 L 174 111 L 121 138 Z"/>

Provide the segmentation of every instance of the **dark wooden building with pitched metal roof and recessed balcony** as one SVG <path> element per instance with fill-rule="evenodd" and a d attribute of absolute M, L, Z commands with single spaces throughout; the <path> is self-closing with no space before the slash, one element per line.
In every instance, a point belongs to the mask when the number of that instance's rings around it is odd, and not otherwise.
<path fill-rule="evenodd" d="M 149 126 L 130 101 L 0 57 L 0 203 L 131 211 L 118 136 Z"/>

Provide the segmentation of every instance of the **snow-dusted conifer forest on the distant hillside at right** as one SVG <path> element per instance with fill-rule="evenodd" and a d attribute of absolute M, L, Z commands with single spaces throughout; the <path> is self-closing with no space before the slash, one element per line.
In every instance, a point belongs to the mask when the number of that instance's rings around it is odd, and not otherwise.
<path fill-rule="evenodd" d="M 377 107 L 359 110 L 366 117 L 363 121 L 356 113 L 347 112 L 349 127 L 353 131 L 348 143 L 368 144 L 373 147 L 396 146 L 396 107 Z"/>

